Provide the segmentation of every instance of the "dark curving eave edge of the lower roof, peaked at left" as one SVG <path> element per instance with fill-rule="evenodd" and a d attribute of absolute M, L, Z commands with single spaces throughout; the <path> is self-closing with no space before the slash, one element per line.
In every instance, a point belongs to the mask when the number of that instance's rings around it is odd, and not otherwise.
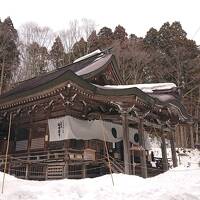
<path fill-rule="evenodd" d="M 172 99 L 168 101 L 160 101 L 158 98 L 152 97 L 148 95 L 147 93 L 141 91 L 140 89 L 136 87 L 132 88 L 126 88 L 126 89 L 112 89 L 112 88 L 103 88 L 98 87 L 96 85 L 93 85 L 89 83 L 88 81 L 84 80 L 82 77 L 77 76 L 74 72 L 68 70 L 63 74 L 60 74 L 56 78 L 54 78 L 51 81 L 45 82 L 44 84 L 41 84 L 37 87 L 33 87 L 30 90 L 26 91 L 20 91 L 18 93 L 9 93 L 4 94 L 0 97 L 0 105 L 8 105 L 13 102 L 17 102 L 19 99 L 28 99 L 33 94 L 35 96 L 45 93 L 49 89 L 52 89 L 56 86 L 63 86 L 69 82 L 74 83 L 75 85 L 78 85 L 83 90 L 90 91 L 92 95 L 99 95 L 103 97 L 110 97 L 113 98 L 119 98 L 120 100 L 123 99 L 123 97 L 138 97 L 142 101 L 145 102 L 145 104 L 150 106 L 160 106 L 160 107 L 168 107 L 173 108 L 178 111 L 178 113 L 181 115 L 183 121 L 191 120 L 191 117 L 187 114 L 184 106 L 177 100 Z M 14 105 L 14 104 L 13 104 Z"/>

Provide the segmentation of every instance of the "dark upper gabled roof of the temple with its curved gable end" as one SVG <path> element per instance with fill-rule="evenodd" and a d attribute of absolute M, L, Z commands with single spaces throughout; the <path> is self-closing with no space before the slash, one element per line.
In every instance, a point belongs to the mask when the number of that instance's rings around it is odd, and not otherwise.
<path fill-rule="evenodd" d="M 119 71 L 116 65 L 115 57 L 112 54 L 106 54 L 104 52 L 97 53 L 93 56 L 90 56 L 86 59 L 80 60 L 78 62 L 74 62 L 65 67 L 58 68 L 49 73 L 42 74 L 40 76 L 34 77 L 32 79 L 23 81 L 19 83 L 15 88 L 10 91 L 2 94 L 0 99 L 5 98 L 11 95 L 17 95 L 18 93 L 23 93 L 26 91 L 33 90 L 34 88 L 38 88 L 40 86 L 44 86 L 48 84 L 58 77 L 65 75 L 68 71 L 72 71 L 78 76 L 82 77 L 85 80 L 88 80 L 100 72 L 104 71 L 109 64 L 112 64 L 112 68 L 114 70 L 115 75 L 120 83 L 122 83 L 121 76 L 119 75 Z M 1 101 L 1 100 L 0 100 Z"/>

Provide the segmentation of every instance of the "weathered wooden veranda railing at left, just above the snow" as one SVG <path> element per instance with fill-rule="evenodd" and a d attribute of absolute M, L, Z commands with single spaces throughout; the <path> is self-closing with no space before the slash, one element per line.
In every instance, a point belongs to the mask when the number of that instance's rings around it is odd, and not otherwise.
<path fill-rule="evenodd" d="M 81 165 L 96 162 L 95 150 L 60 149 L 8 155 L 7 173 L 23 179 L 46 180 L 66 177 L 66 162 Z M 0 170 L 3 171 L 5 155 L 0 156 Z M 73 175 L 80 178 L 82 175 Z"/>

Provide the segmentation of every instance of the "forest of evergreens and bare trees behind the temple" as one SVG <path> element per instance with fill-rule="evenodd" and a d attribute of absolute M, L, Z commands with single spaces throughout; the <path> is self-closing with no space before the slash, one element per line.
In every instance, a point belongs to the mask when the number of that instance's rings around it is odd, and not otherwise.
<path fill-rule="evenodd" d="M 108 48 L 116 56 L 126 84 L 173 82 L 188 112 L 198 119 L 200 49 L 176 21 L 166 22 L 158 30 L 150 28 L 140 37 L 128 34 L 122 25 L 97 31 L 95 22 L 88 19 L 71 21 L 56 33 L 33 22 L 16 30 L 8 17 L 0 21 L 0 93 Z"/>

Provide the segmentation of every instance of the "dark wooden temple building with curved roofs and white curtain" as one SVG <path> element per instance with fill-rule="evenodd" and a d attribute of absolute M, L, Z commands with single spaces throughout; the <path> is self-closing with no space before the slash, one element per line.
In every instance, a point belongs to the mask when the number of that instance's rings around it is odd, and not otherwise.
<path fill-rule="evenodd" d="M 163 85 L 124 86 L 108 52 L 18 84 L 0 96 L 0 169 L 33 180 L 96 177 L 109 169 L 148 177 L 146 135 L 155 133 L 162 170 L 166 138 L 177 166 L 175 126 L 191 119 L 175 85 Z"/>

